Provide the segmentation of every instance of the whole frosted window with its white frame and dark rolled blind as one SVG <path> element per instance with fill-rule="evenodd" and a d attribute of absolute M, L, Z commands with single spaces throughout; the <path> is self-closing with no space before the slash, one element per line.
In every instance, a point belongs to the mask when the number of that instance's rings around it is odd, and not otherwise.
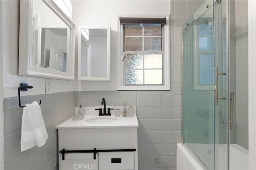
<path fill-rule="evenodd" d="M 119 90 L 170 89 L 169 25 L 165 22 L 166 18 L 120 18 Z"/>

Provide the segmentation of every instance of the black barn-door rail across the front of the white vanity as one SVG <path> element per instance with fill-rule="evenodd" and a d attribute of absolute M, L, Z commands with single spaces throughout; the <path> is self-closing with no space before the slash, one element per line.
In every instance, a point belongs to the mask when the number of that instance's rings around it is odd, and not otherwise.
<path fill-rule="evenodd" d="M 96 159 L 96 154 L 98 152 L 135 152 L 136 149 L 105 149 L 105 150 L 96 150 L 94 148 L 93 150 L 60 150 L 60 153 L 62 154 L 62 160 L 65 160 L 65 154 L 74 154 L 74 153 L 93 153 L 93 159 Z"/>

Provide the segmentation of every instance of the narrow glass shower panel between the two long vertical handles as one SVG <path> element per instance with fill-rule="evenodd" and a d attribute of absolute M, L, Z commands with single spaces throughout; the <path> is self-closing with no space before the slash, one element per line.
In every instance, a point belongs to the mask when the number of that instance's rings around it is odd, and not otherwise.
<path fill-rule="evenodd" d="M 214 105 L 215 105 L 215 169 L 229 169 L 229 128 L 230 86 L 228 83 L 227 45 L 227 3 L 228 0 L 214 3 Z M 234 99 L 234 98 L 232 98 Z"/>

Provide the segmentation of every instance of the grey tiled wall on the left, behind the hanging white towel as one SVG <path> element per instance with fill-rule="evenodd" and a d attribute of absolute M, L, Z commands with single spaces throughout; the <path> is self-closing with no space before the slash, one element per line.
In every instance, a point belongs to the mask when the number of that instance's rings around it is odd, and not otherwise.
<path fill-rule="evenodd" d="M 21 152 L 22 108 L 18 98 L 4 99 L 4 170 L 57 170 L 58 133 L 55 126 L 74 115 L 74 92 L 22 97 L 22 105 L 42 100 L 40 105 L 49 138 L 44 146 Z"/>

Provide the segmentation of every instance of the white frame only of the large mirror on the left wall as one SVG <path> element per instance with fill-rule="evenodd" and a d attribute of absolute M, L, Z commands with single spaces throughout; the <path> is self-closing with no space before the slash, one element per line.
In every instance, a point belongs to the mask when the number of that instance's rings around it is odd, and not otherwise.
<path fill-rule="evenodd" d="M 74 79 L 74 38 L 75 25 L 70 18 L 52 0 L 42 0 L 46 5 L 70 27 L 70 65 L 69 73 L 47 69 L 32 65 L 33 58 L 33 0 L 20 1 L 20 40 L 19 40 L 19 68 L 18 74 L 32 77 L 54 79 Z M 37 45 L 36 45 L 37 47 Z"/>

